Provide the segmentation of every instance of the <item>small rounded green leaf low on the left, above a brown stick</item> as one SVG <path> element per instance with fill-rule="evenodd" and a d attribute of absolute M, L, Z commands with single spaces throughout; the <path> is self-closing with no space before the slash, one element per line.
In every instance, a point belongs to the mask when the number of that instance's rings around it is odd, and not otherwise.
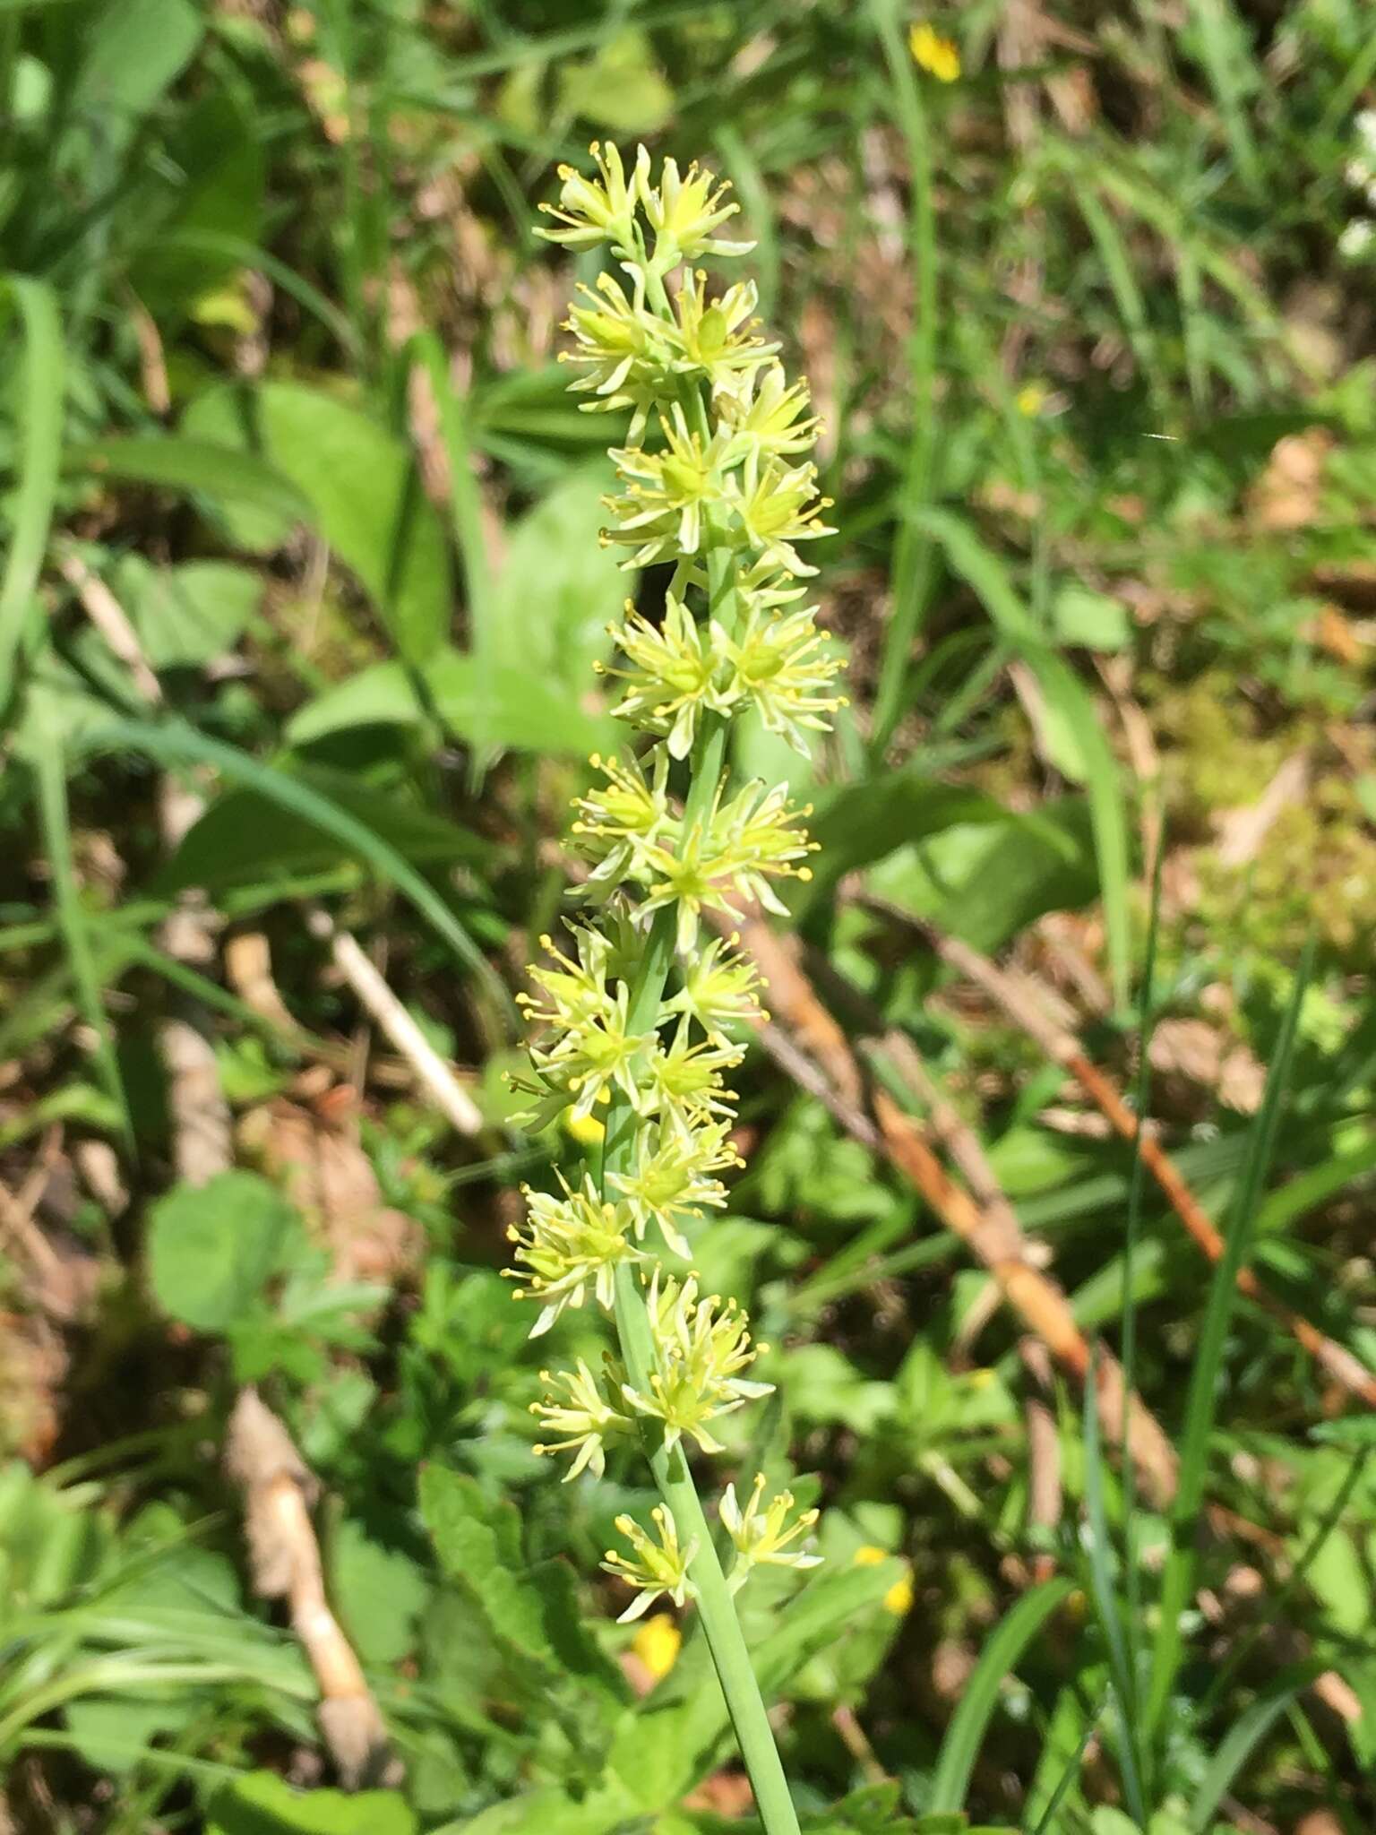
<path fill-rule="evenodd" d="M 257 1173 L 174 1185 L 149 1220 L 158 1305 L 198 1332 L 222 1332 L 259 1297 L 301 1235 L 295 1206 Z"/>

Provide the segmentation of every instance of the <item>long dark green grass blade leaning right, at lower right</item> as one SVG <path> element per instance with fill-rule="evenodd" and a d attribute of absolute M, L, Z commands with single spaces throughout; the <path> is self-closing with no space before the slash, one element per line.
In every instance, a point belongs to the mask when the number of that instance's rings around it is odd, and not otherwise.
<path fill-rule="evenodd" d="M 1185 1433 L 1180 1450 L 1180 1488 L 1171 1507 L 1171 1551 L 1161 1574 L 1161 1604 L 1156 1642 L 1152 1648 L 1152 1683 L 1147 1701 L 1147 1729 L 1160 1732 L 1171 1690 L 1180 1674 L 1183 1635 L 1180 1618 L 1194 1585 L 1194 1527 L 1204 1503 L 1209 1470 L 1209 1440 L 1218 1409 L 1218 1376 L 1224 1365 L 1227 1327 L 1237 1305 L 1237 1275 L 1242 1268 L 1260 1200 L 1262 1180 L 1271 1158 L 1281 1105 L 1290 1077 L 1290 1057 L 1295 1044 L 1299 1007 L 1314 969 L 1314 940 L 1295 973 L 1295 987 L 1275 1042 L 1271 1070 L 1266 1077 L 1266 1095 L 1248 1138 L 1248 1158 L 1242 1167 L 1237 1202 L 1224 1239 L 1224 1253 L 1215 1266 L 1209 1303 L 1204 1314 L 1200 1343 L 1191 1373 L 1185 1404 Z"/>

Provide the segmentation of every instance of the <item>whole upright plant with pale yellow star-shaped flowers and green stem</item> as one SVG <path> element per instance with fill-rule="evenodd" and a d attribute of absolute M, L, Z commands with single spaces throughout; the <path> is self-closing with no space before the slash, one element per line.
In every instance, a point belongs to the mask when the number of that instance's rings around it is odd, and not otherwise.
<path fill-rule="evenodd" d="M 539 1308 L 536 1334 L 565 1307 L 615 1319 L 602 1371 L 580 1360 L 547 1374 L 539 1450 L 567 1455 L 574 1477 L 600 1475 L 615 1440 L 644 1448 L 660 1503 L 649 1527 L 618 1519 L 627 1551 L 605 1567 L 635 1589 L 626 1618 L 662 1595 L 697 1604 L 763 1824 L 785 1835 L 798 1822 L 732 1595 L 761 1563 L 813 1565 L 816 1512 L 769 1497 L 763 1477 L 741 1496 L 728 1485 L 723 1573 L 688 1453 L 721 1453 L 716 1422 L 769 1385 L 750 1374 L 761 1347 L 745 1314 L 688 1272 L 681 1226 L 727 1202 L 723 1173 L 739 1165 L 727 1077 L 743 1057 L 739 1026 L 760 1011 L 750 963 L 712 919 L 756 903 L 782 912 L 776 881 L 807 875 L 807 811 L 785 787 L 732 784 L 727 760 L 730 725 L 750 710 L 805 751 L 840 705 L 838 664 L 802 604 L 815 573 L 802 543 L 829 534 L 827 503 L 807 461 L 807 389 L 761 338 L 754 284 L 714 294 L 692 266 L 752 246 L 721 233 L 736 211 L 727 187 L 673 160 L 655 182 L 644 149 L 629 172 L 615 147 L 593 158 L 596 178 L 561 171 L 541 233 L 609 248 L 624 275 L 580 288 L 572 387 L 589 409 L 629 409 L 602 539 L 629 550 L 627 567 L 671 562 L 673 576 L 659 622 L 627 602 L 613 633 L 607 675 L 631 743 L 593 760 L 600 782 L 578 800 L 571 837 L 589 868 L 583 916 L 567 949 L 541 940 L 539 995 L 525 996 L 538 1118 L 571 1108 L 604 1127 L 596 1178 L 527 1193 L 519 1297 Z"/>

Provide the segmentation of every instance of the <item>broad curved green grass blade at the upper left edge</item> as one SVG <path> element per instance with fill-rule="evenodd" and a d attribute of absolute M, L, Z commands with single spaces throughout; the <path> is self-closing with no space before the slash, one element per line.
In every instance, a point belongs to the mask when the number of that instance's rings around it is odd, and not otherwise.
<path fill-rule="evenodd" d="M 62 455 L 66 356 L 57 297 L 42 281 L 13 273 L 6 290 L 24 328 L 24 389 L 18 409 L 18 490 L 0 580 L 0 712 L 15 692 L 15 657 L 48 550 Z"/>

